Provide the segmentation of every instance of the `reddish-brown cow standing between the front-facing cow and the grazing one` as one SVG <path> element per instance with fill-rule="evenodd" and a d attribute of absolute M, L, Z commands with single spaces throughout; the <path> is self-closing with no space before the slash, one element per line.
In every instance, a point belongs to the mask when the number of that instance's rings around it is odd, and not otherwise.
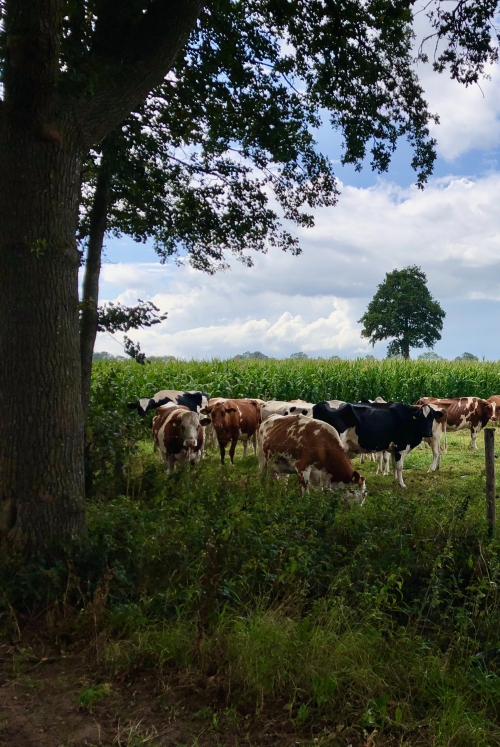
<path fill-rule="evenodd" d="M 248 441 L 252 439 L 254 451 L 257 451 L 257 429 L 260 421 L 262 400 L 226 399 L 215 402 L 202 410 L 209 415 L 212 427 L 217 436 L 220 449 L 220 460 L 224 464 L 226 447 L 229 447 L 229 459 L 234 466 L 234 452 L 238 441 L 243 442 L 243 456 L 247 455 Z"/>

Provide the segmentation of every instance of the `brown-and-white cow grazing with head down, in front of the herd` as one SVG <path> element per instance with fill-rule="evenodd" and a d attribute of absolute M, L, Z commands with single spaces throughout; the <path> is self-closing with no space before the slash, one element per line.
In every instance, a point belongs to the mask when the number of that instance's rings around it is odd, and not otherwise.
<path fill-rule="evenodd" d="M 259 469 L 296 474 L 302 490 L 352 488 L 349 498 L 363 502 L 365 478 L 353 469 L 335 428 L 306 415 L 271 415 L 259 429 Z"/>

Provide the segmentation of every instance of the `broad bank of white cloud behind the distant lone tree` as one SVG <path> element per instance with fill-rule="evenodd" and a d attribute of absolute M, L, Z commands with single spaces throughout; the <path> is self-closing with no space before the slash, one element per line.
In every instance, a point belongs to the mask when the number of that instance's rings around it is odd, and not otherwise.
<path fill-rule="evenodd" d="M 168 264 L 110 264 L 101 295 L 153 300 L 168 320 L 134 339 L 149 354 L 198 358 L 249 349 L 371 352 L 357 319 L 385 273 L 409 264 L 422 266 L 445 309 L 447 301 L 500 298 L 499 174 L 439 179 L 424 192 L 383 181 L 342 191 L 339 205 L 318 211 L 316 227 L 303 231 L 299 257 L 270 252 L 253 268 L 235 262 L 213 277 Z M 100 336 L 98 349 L 110 347 Z"/>

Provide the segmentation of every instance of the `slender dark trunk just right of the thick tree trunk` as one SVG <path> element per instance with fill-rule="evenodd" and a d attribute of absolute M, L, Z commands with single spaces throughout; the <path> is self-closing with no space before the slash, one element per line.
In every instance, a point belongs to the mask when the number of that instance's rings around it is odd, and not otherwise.
<path fill-rule="evenodd" d="M 90 214 L 89 238 L 85 274 L 82 288 L 82 313 L 80 319 L 80 356 L 82 362 L 82 408 L 83 417 L 87 419 L 90 398 L 90 380 L 92 376 L 92 356 L 97 335 L 99 300 L 99 275 L 101 273 L 101 256 L 106 233 L 108 206 L 111 192 L 110 156 L 104 141 L 102 158 L 97 174 L 94 201 Z"/>

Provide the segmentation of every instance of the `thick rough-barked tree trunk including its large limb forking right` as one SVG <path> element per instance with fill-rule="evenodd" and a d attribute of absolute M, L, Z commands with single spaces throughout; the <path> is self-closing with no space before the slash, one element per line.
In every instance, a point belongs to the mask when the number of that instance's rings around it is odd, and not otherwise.
<path fill-rule="evenodd" d="M 125 1 L 125 0 L 124 0 Z M 76 229 L 83 156 L 161 81 L 198 0 L 114 23 L 103 4 L 75 99 L 60 78 L 64 0 L 5 0 L 0 101 L 0 546 L 85 536 Z M 131 6 L 132 8 L 132 6 Z M 139 9 L 140 11 L 140 9 Z M 134 11 L 135 12 L 135 11 Z M 129 14 L 130 15 L 130 14 Z"/>

